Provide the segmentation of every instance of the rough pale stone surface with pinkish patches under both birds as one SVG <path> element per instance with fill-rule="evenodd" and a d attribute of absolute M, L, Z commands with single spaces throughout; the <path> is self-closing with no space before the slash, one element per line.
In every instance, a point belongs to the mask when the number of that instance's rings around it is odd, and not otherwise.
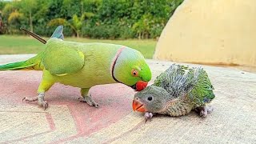
<path fill-rule="evenodd" d="M 0 55 L 0 64 L 31 56 Z M 147 62 L 154 78 L 172 63 Z M 95 86 L 95 109 L 78 102 L 78 88 L 56 84 L 46 93 L 49 109 L 42 110 L 22 102 L 35 96 L 42 72 L 0 71 L 0 143 L 255 143 L 256 74 L 202 67 L 215 88 L 214 112 L 207 118 L 194 112 L 157 116 L 146 124 L 132 111 L 134 91 L 127 86 Z"/>

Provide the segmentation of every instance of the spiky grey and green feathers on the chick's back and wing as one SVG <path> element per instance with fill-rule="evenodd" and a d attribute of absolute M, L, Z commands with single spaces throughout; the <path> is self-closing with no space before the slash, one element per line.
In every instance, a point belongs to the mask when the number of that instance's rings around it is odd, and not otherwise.
<path fill-rule="evenodd" d="M 172 65 L 156 78 L 154 86 L 166 89 L 175 97 L 187 94 L 195 106 L 202 106 L 214 98 L 214 87 L 202 68 Z"/>

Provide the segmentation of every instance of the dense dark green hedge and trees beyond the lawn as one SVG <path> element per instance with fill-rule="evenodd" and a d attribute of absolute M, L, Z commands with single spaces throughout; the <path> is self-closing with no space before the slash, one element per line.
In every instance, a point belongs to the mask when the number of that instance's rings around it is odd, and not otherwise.
<path fill-rule="evenodd" d="M 0 34 L 24 27 L 49 37 L 64 25 L 66 36 L 158 38 L 183 0 L 0 0 Z"/>

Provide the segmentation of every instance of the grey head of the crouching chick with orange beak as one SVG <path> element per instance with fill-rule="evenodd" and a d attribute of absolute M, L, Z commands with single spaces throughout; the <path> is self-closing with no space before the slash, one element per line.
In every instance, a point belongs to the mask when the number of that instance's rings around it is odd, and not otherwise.
<path fill-rule="evenodd" d="M 139 112 L 158 113 L 166 106 L 169 94 L 162 87 L 147 86 L 134 95 L 133 109 Z"/>

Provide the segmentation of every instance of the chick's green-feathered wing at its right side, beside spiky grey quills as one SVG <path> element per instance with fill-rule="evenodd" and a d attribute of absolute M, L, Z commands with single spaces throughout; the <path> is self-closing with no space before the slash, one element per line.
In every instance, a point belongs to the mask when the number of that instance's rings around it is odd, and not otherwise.
<path fill-rule="evenodd" d="M 215 97 L 213 92 L 214 86 L 211 85 L 205 70 L 202 68 L 190 69 L 186 77 L 187 83 L 190 84 L 188 96 L 192 99 L 195 106 L 202 106 Z"/>

